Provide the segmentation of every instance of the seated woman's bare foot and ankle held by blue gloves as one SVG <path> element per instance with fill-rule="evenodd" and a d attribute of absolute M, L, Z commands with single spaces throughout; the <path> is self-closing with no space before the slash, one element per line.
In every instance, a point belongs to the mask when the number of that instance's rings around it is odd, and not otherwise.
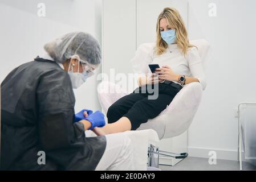
<path fill-rule="evenodd" d="M 95 127 L 92 131 L 98 136 L 112 133 L 120 133 L 132 129 L 131 121 L 127 117 L 121 117 L 115 123 L 107 124 L 104 127 Z"/>

